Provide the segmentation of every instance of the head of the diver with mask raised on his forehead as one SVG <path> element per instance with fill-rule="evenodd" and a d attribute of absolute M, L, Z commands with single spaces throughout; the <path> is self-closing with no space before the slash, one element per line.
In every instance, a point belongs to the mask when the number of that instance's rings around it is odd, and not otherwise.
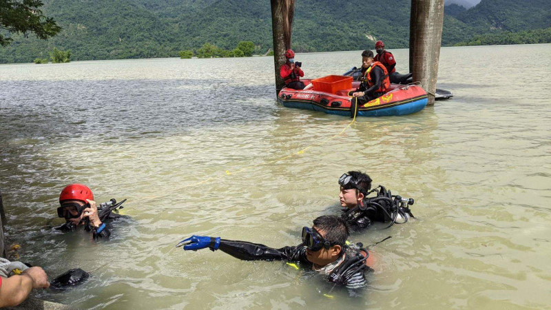
<path fill-rule="evenodd" d="M 340 205 L 348 209 L 357 206 L 371 189 L 371 181 L 367 174 L 359 171 L 349 171 L 340 176 Z"/>

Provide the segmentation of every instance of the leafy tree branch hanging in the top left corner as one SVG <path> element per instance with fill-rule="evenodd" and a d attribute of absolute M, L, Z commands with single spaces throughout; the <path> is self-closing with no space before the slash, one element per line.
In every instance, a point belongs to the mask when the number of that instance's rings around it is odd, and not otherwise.
<path fill-rule="evenodd" d="M 45 17 L 39 10 L 43 6 L 41 0 L 0 0 L 0 30 L 10 33 L 33 32 L 40 39 L 48 39 L 61 31 L 61 27 L 52 19 Z M 0 34 L 0 45 L 6 46 L 13 41 L 10 37 Z"/>

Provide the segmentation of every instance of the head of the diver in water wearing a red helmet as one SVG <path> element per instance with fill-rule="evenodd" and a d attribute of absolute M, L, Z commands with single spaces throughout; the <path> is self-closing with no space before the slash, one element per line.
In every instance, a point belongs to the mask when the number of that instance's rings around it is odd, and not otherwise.
<path fill-rule="evenodd" d="M 57 216 L 65 218 L 67 222 L 79 225 L 83 219 L 83 210 L 88 200 L 94 200 L 92 190 L 83 184 L 70 184 L 61 191 L 59 203 L 61 207 L 57 208 Z"/>

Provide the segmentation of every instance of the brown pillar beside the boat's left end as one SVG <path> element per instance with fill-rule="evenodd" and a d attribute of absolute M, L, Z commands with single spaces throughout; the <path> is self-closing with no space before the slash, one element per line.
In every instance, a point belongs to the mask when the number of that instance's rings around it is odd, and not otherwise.
<path fill-rule="evenodd" d="M 280 76 L 280 67 L 285 63 L 285 50 L 291 48 L 291 31 L 295 0 L 270 0 L 271 29 L 273 35 L 273 63 L 275 65 L 276 95 L 285 85 Z"/>

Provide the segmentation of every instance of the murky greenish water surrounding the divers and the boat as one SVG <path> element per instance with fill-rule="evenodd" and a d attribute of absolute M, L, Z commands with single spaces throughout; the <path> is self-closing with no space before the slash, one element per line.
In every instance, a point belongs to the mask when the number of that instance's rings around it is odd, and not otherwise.
<path fill-rule="evenodd" d="M 392 52 L 406 72 L 407 51 Z M 359 54 L 296 59 L 318 77 Z M 439 87 L 454 99 L 360 118 L 326 140 L 350 119 L 278 105 L 269 57 L 0 65 L 8 236 L 50 278 L 93 271 L 81 287 L 35 294 L 79 308 L 546 308 L 549 68 L 551 45 L 443 48 Z M 373 247 L 362 298 L 326 298 L 330 285 L 282 262 L 174 247 L 191 234 L 295 245 L 303 225 L 338 213 L 349 169 L 416 200 L 417 220 L 352 236 L 393 237 Z M 74 182 L 99 202 L 128 198 L 133 220 L 110 242 L 52 231 Z"/>

